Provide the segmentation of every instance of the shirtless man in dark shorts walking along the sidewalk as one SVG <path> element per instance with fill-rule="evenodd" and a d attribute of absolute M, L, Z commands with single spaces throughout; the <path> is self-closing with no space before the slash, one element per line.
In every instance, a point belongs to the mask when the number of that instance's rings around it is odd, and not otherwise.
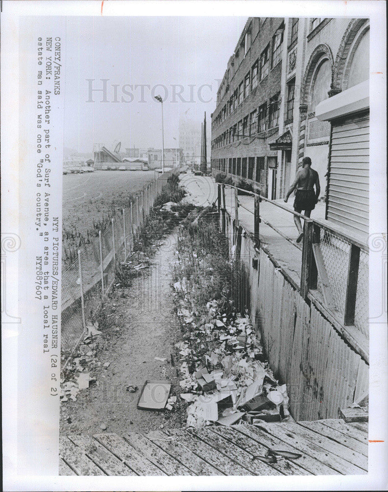
<path fill-rule="evenodd" d="M 311 169 L 310 157 L 304 157 L 302 164 L 302 169 L 299 169 L 299 171 L 296 173 L 295 181 L 293 184 L 291 184 L 290 189 L 287 191 L 284 201 L 287 203 L 289 196 L 294 191 L 294 189 L 296 189 L 294 210 L 299 214 L 302 214 L 302 210 L 304 210 L 304 215 L 306 217 L 309 217 L 311 214 L 311 210 L 314 210 L 315 204 L 318 203 L 318 197 L 319 193 L 321 192 L 321 187 L 319 185 L 318 173 L 314 169 Z M 299 236 L 296 242 L 300 243 L 303 239 L 303 229 L 300 217 L 294 215 L 294 222 L 299 232 Z"/>

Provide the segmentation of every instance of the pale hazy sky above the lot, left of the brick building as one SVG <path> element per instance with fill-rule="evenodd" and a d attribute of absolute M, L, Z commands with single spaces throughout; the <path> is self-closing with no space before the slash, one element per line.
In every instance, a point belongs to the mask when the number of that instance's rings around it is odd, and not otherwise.
<path fill-rule="evenodd" d="M 179 115 L 185 112 L 200 128 L 206 111 L 209 133 L 217 79 L 222 79 L 246 21 L 247 17 L 68 17 L 65 146 L 92 152 L 93 143 L 111 149 L 121 141 L 122 149 L 134 144 L 161 148 L 161 104 L 152 97 L 158 94 L 166 96 L 165 147 L 177 146 Z M 105 94 L 90 93 L 103 89 L 101 79 L 108 79 Z M 104 95 L 108 102 L 102 102 Z M 90 99 L 94 102 L 87 102 Z"/>

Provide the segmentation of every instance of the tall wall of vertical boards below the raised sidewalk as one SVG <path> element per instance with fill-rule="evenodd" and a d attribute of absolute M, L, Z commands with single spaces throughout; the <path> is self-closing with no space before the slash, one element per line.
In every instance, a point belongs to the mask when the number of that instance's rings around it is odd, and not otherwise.
<path fill-rule="evenodd" d="M 231 252 L 249 277 L 249 314 L 262 337 L 275 376 L 287 384 L 297 421 L 337 418 L 368 392 L 368 369 L 337 329 L 283 275 L 281 267 L 255 244 L 254 235 L 236 228 L 222 210 L 220 225 Z"/>

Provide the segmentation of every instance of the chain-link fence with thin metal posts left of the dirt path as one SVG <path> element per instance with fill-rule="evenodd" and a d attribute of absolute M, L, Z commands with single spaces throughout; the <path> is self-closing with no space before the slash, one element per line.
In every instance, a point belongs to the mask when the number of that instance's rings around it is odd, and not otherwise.
<path fill-rule="evenodd" d="M 155 200 L 171 172 L 159 176 L 116 213 L 105 228 L 80 242 L 77 254 L 62 254 L 61 351 L 66 360 L 86 334 L 87 324 L 101 307 L 115 278 L 116 263 L 133 250 Z"/>

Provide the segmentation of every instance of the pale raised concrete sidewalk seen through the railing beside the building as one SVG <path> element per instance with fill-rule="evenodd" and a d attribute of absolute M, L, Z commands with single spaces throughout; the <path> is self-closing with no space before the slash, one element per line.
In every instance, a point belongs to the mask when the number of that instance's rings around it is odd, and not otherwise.
<path fill-rule="evenodd" d="M 195 205 L 208 206 L 217 199 L 217 183 L 215 183 L 213 178 L 186 175 L 183 178 L 181 177 L 181 184 L 189 193 L 188 199 Z M 225 202 L 226 210 L 234 218 L 234 189 L 228 186 L 225 186 Z M 282 199 L 277 200 L 277 202 L 285 205 L 290 211 L 293 210 L 293 196 L 289 198 L 286 204 Z M 291 239 L 296 240 L 298 237 L 294 217 L 291 213 L 278 208 L 272 203 L 262 201 L 260 203 L 260 216 Z M 311 217 L 324 219 L 325 204 L 319 202 L 315 210 L 311 213 Z M 254 197 L 250 195 L 239 195 L 239 222 L 243 229 L 250 233 L 254 232 L 253 218 Z M 260 240 L 277 259 L 279 265 L 286 269 L 290 277 L 299 285 L 302 251 L 282 238 L 271 227 L 264 224 L 264 222 L 260 224 Z"/>

